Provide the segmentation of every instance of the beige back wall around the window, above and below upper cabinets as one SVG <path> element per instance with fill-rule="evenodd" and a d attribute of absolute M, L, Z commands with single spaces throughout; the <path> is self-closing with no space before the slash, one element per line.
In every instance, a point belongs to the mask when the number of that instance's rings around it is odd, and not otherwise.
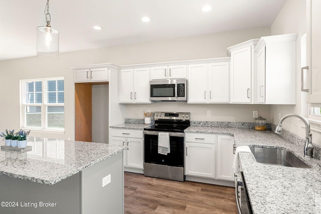
<path fill-rule="evenodd" d="M 0 89 L 2 89 L 2 119 L 0 131 L 20 128 L 20 107 L 19 107 L 19 80 L 45 78 L 45 77 L 65 77 L 65 134 L 38 134 L 32 132 L 33 136 L 58 137 L 74 139 L 74 83 L 73 74 L 70 67 L 83 66 L 101 63 L 113 63 L 116 65 L 130 65 L 142 63 L 156 63 L 167 61 L 194 60 L 206 58 L 226 57 L 226 48 L 250 39 L 260 38 L 270 35 L 270 28 L 250 29 L 236 32 L 226 32 L 219 34 L 178 38 L 165 41 L 148 42 L 124 46 L 114 46 L 108 48 L 61 53 L 59 60 L 46 60 L 37 57 L 0 61 Z M 112 94 L 113 92 L 110 91 Z M 118 96 L 113 94 L 113 96 Z M 186 104 L 186 103 L 185 103 Z M 205 109 L 211 108 L 211 120 L 221 121 L 244 121 L 251 117 L 252 109 L 268 112 L 267 106 L 251 105 L 182 105 L 184 109 L 194 114 L 192 119 L 202 120 L 206 117 Z M 139 107 L 140 106 L 140 107 Z M 153 110 L 164 109 L 165 104 L 152 104 Z M 180 111 L 176 104 L 168 105 L 167 111 Z M 184 107 L 183 107 L 184 106 Z M 223 108 L 222 108 L 223 106 Z M 224 107 L 226 106 L 226 108 Z M 141 113 L 145 107 L 141 105 L 126 105 L 127 115 L 142 118 Z M 198 108 L 201 108 L 198 112 Z M 227 109 L 230 109 L 227 112 Z M 240 110 L 241 109 L 241 110 Z M 241 115 L 241 116 L 240 116 Z M 268 115 L 262 115 L 269 120 Z M 135 118 L 137 118 L 135 117 Z M 110 124 L 113 125 L 113 124 Z"/>

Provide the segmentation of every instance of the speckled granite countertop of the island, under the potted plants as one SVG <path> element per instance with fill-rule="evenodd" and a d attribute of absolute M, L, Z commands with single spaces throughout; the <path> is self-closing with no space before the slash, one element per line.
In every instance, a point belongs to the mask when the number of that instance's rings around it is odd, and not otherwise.
<path fill-rule="evenodd" d="M 0 151 L 0 174 L 52 185 L 127 148 L 47 138 L 28 145 L 32 151 Z"/>

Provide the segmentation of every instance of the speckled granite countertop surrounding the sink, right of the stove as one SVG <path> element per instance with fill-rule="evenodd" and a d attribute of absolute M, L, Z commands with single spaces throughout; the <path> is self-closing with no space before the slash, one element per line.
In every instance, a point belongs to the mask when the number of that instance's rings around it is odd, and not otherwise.
<path fill-rule="evenodd" d="M 311 168 L 262 164 L 251 153 L 239 153 L 253 213 L 321 213 L 321 160 L 304 157 L 303 144 L 290 142 L 272 131 L 248 128 L 190 126 L 185 132 L 229 134 L 234 135 L 236 146 L 293 152 Z"/>

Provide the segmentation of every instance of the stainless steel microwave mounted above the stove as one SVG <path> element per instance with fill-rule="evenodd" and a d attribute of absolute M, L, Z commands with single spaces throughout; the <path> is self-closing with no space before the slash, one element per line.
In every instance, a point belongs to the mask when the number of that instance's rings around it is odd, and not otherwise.
<path fill-rule="evenodd" d="M 151 101 L 187 101 L 187 80 L 150 80 Z"/>

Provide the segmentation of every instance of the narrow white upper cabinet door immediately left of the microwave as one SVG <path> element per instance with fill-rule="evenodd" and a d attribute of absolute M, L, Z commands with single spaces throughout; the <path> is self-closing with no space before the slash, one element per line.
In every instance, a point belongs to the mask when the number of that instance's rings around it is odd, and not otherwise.
<path fill-rule="evenodd" d="M 134 69 L 135 103 L 149 103 L 149 68 Z"/>

